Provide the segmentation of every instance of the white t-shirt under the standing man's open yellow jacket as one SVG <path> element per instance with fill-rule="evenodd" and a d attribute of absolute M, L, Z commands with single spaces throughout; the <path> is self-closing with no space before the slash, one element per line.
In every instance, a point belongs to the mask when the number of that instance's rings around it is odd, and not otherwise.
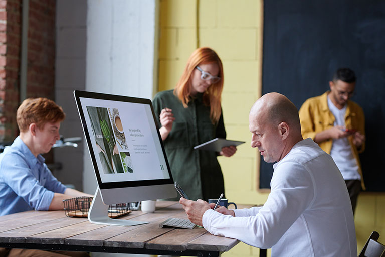
<path fill-rule="evenodd" d="M 345 127 L 346 104 L 342 109 L 338 109 L 330 100 L 329 96 L 327 96 L 327 106 L 334 115 L 334 126 L 339 125 Z M 357 160 L 354 158 L 347 137 L 333 139 L 330 155 L 341 171 L 344 180 L 361 180 L 361 176 L 358 173 Z"/>

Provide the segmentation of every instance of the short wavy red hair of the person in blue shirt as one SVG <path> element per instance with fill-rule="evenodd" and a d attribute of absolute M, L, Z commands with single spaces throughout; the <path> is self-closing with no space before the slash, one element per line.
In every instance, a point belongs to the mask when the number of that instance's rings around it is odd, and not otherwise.
<path fill-rule="evenodd" d="M 66 117 L 62 107 L 47 98 L 28 98 L 22 102 L 16 112 L 16 121 L 20 132 L 28 131 L 31 123 L 42 129 L 47 122 L 62 121 Z"/>

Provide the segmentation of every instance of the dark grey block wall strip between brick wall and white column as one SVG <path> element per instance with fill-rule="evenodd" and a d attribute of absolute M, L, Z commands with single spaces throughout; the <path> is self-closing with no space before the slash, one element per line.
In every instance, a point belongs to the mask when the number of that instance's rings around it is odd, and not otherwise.
<path fill-rule="evenodd" d="M 60 126 L 65 138 L 83 136 L 73 91 L 85 89 L 86 17 L 87 1 L 56 1 L 55 101 L 66 113 Z M 64 184 L 83 190 L 84 142 L 79 145 L 54 149 L 55 163 L 61 163 L 62 169 L 53 170 L 53 174 Z"/>

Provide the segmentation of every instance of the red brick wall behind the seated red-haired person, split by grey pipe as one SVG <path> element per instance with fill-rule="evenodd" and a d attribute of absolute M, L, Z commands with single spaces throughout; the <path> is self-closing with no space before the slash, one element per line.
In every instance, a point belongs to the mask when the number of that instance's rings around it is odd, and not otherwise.
<path fill-rule="evenodd" d="M 29 5 L 27 97 L 54 98 L 56 1 Z M 22 0 L 0 0 L 0 142 L 18 134 Z"/>

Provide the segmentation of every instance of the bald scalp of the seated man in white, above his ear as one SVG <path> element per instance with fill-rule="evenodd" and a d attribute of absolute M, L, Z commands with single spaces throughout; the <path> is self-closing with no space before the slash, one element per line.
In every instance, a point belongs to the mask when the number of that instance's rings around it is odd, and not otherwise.
<path fill-rule="evenodd" d="M 261 116 L 262 115 L 262 116 Z M 301 134 L 298 110 L 286 96 L 279 93 L 268 93 L 259 98 L 251 107 L 251 117 L 263 117 L 265 122 L 277 126 L 286 122 L 295 134 Z"/>

